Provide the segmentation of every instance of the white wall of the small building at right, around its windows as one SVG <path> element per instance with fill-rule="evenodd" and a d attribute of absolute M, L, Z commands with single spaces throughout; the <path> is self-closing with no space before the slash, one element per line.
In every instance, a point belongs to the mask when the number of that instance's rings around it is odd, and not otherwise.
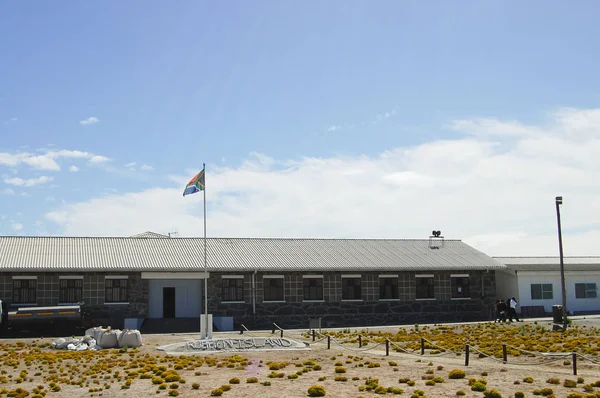
<path fill-rule="evenodd" d="M 550 283 L 552 284 L 551 300 L 532 300 L 531 284 Z M 565 272 L 565 290 L 567 292 L 567 311 L 600 311 L 600 295 L 593 299 L 575 298 L 575 283 L 595 283 L 596 288 L 600 288 L 600 275 L 597 272 Z M 536 271 L 536 272 L 518 272 L 519 304 L 525 305 L 543 305 L 546 312 L 552 311 L 552 306 L 562 304 L 562 291 L 559 271 Z"/>

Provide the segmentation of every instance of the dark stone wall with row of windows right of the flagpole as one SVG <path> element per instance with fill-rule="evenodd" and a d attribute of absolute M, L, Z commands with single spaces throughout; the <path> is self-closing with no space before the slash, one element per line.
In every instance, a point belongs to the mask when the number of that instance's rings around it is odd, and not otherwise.
<path fill-rule="evenodd" d="M 379 300 L 381 272 L 362 272 L 362 300 L 342 301 L 342 273 L 325 272 L 323 300 L 304 302 L 301 272 L 284 275 L 285 302 L 263 301 L 263 275 L 255 276 L 253 301 L 252 274 L 244 275 L 244 302 L 224 303 L 221 300 L 220 273 L 209 278 L 209 312 L 214 316 L 231 316 L 239 325 L 252 329 L 271 328 L 275 322 L 282 328 L 307 328 L 309 319 L 321 318 L 322 327 L 371 326 L 435 322 L 466 322 L 492 317 L 495 299 L 494 272 L 470 271 L 468 299 L 453 299 L 450 275 L 454 272 L 427 272 L 434 275 L 434 299 L 416 299 L 415 272 L 394 272 L 398 275 L 397 300 Z M 466 272 L 461 272 L 466 274 Z M 274 273 L 270 273 L 274 274 Z M 311 273 L 316 274 L 316 273 Z M 231 273 L 228 273 L 231 275 Z"/>

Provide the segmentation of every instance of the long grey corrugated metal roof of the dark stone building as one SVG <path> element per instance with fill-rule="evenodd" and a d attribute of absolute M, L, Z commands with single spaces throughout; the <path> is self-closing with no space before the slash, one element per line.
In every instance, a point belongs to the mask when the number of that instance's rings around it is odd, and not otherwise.
<path fill-rule="evenodd" d="M 459 240 L 208 238 L 209 271 L 476 270 L 505 266 Z M 198 271 L 202 238 L 0 237 L 2 271 Z"/>

